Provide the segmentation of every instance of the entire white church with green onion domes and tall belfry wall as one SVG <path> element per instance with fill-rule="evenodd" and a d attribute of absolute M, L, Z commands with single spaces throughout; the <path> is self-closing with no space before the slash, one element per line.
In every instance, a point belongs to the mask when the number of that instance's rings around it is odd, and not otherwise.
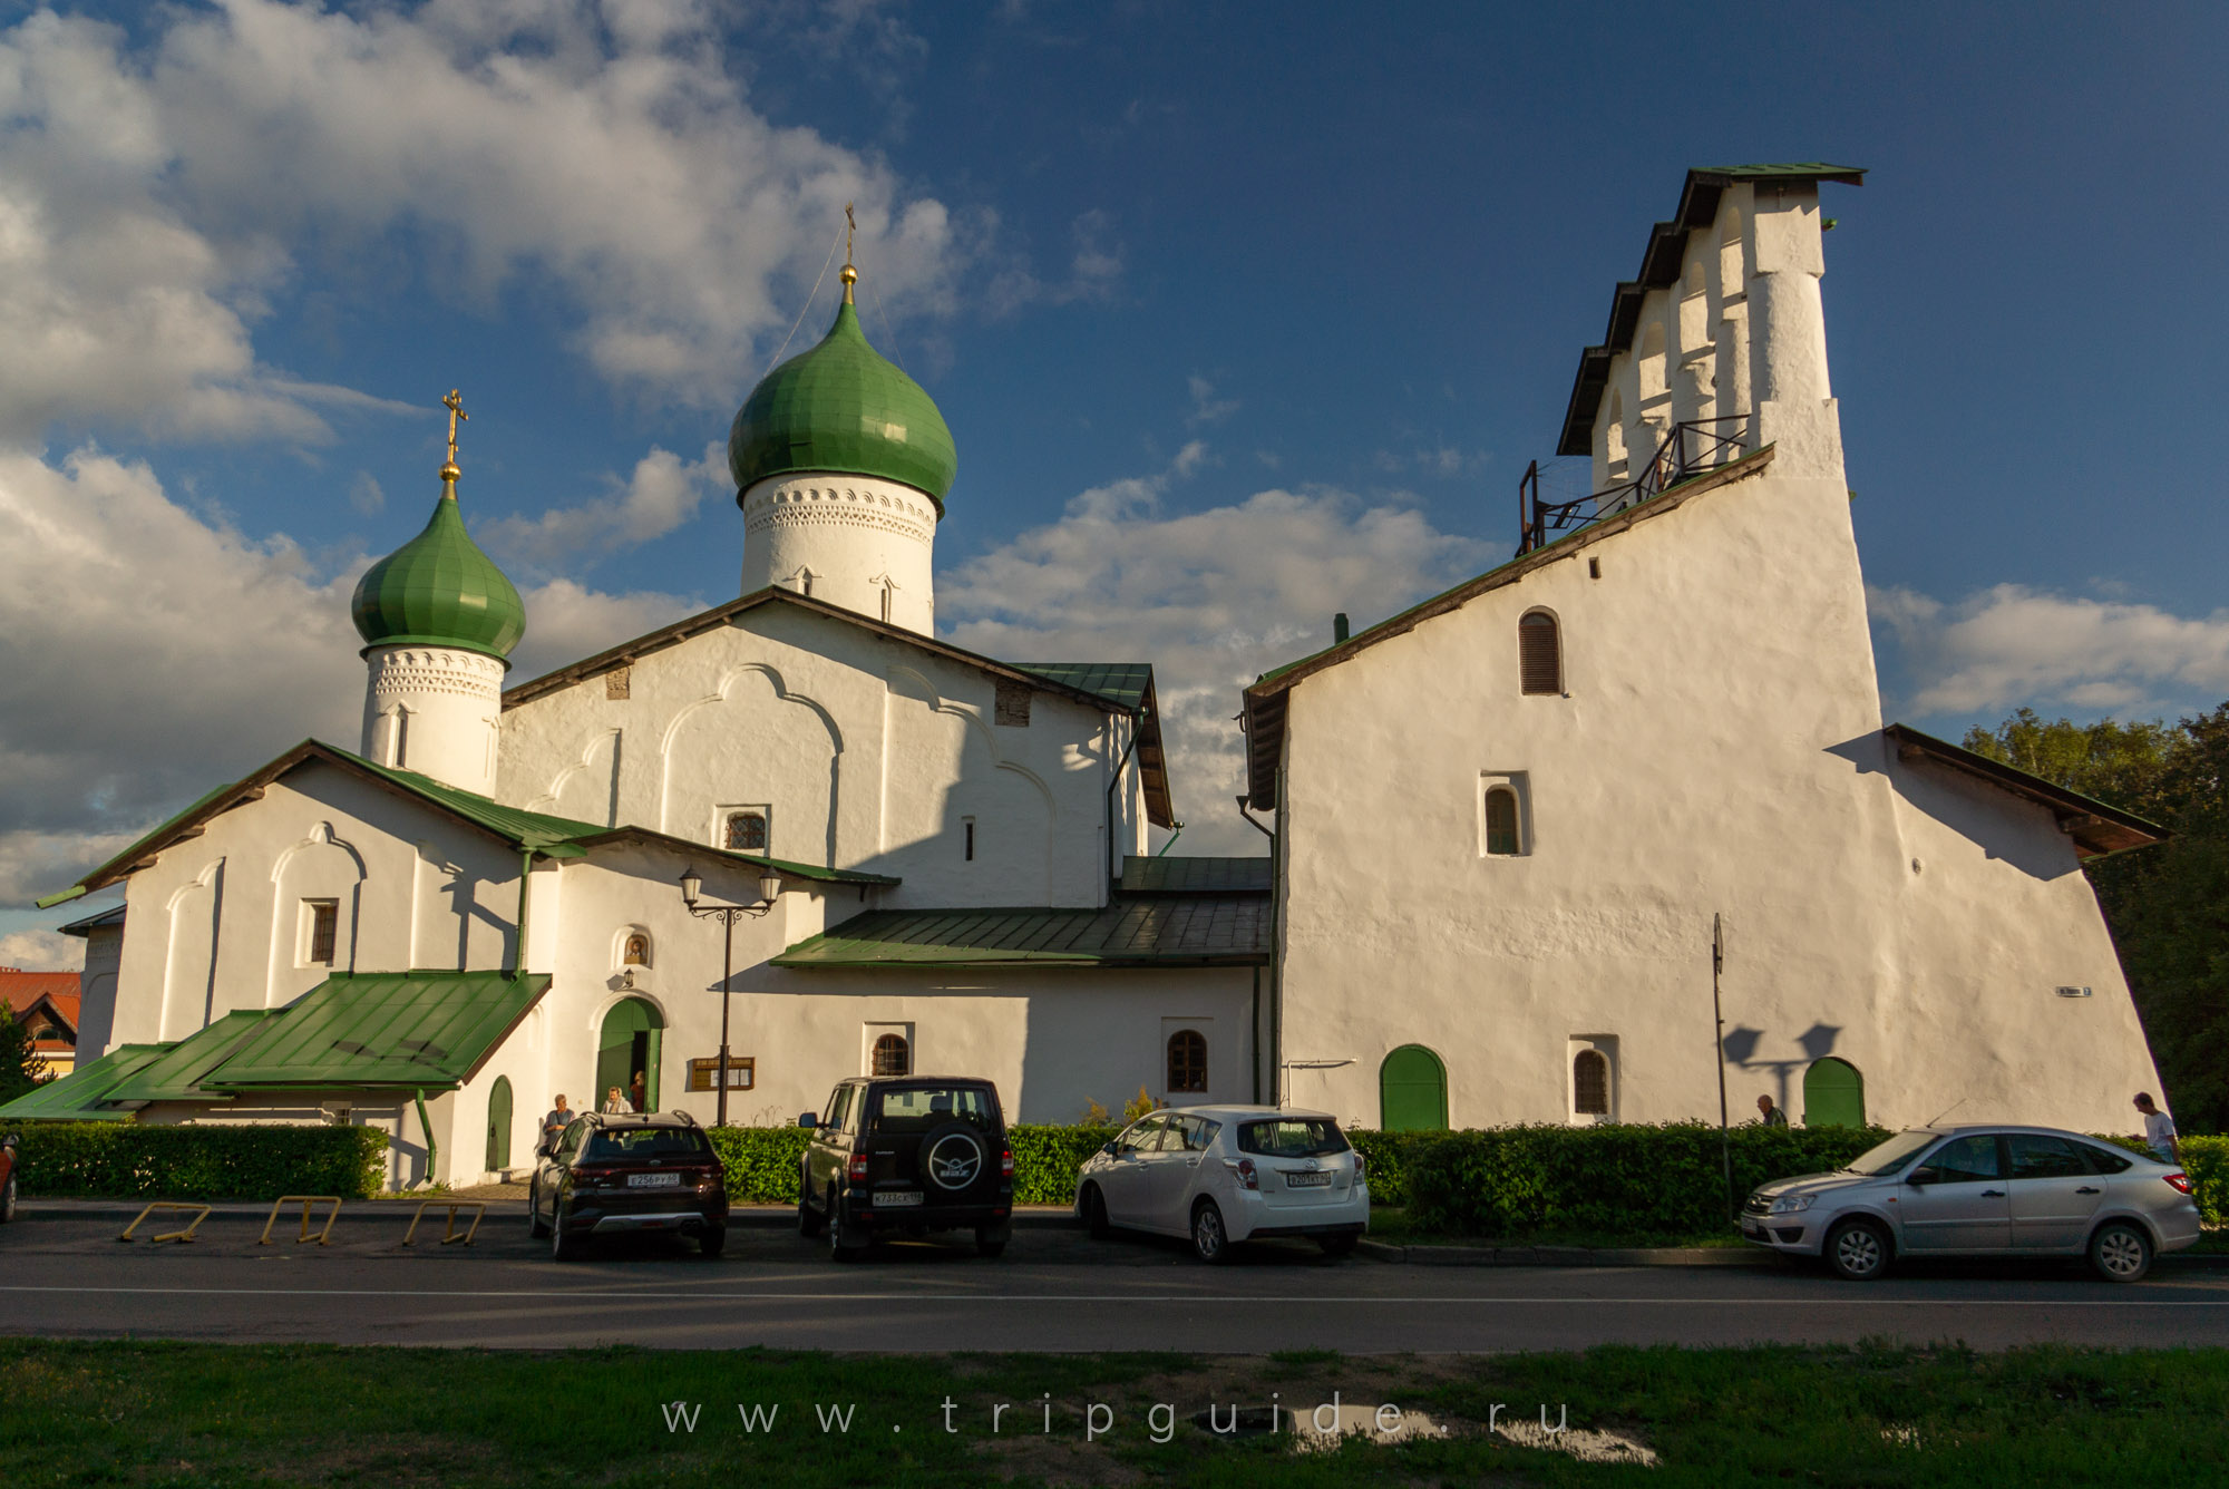
<path fill-rule="evenodd" d="M 2158 1077 L 2080 863 L 2160 829 L 1881 720 L 1819 292 L 1859 181 L 1687 174 L 1580 359 L 1587 493 L 1529 479 L 1509 564 L 1244 691 L 1268 858 L 1146 856 L 1150 664 L 936 640 L 956 455 L 849 265 L 731 430 L 740 597 L 508 689 L 452 401 L 354 595 L 357 747 L 56 896 L 125 887 L 69 927 L 78 1074 L 4 1115 L 366 1121 L 397 1184 L 524 1166 L 553 1092 L 787 1121 L 914 1070 L 1016 1121 L 1714 1119 L 1723 1072 L 1736 1119 L 2120 1126 Z"/>

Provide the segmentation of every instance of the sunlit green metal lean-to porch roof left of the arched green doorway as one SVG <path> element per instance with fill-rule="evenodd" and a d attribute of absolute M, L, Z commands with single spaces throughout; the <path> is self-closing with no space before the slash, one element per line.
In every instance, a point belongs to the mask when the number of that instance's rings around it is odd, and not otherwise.
<path fill-rule="evenodd" d="M 548 990 L 546 972 L 339 972 L 201 1079 L 207 1090 L 461 1086 Z"/>

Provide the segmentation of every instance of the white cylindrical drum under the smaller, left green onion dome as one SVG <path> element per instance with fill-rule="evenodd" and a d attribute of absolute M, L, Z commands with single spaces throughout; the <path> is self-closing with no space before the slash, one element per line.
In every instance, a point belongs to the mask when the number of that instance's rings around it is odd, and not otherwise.
<path fill-rule="evenodd" d="M 363 664 L 363 758 L 495 796 L 504 664 L 464 646 L 372 646 Z"/>

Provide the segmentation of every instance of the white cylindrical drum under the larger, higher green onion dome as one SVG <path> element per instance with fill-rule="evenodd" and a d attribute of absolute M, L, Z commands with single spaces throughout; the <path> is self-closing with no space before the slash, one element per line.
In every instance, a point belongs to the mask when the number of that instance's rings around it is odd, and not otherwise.
<path fill-rule="evenodd" d="M 936 502 L 872 475 L 789 470 L 742 506 L 742 593 L 780 584 L 921 635 L 936 633 Z"/>

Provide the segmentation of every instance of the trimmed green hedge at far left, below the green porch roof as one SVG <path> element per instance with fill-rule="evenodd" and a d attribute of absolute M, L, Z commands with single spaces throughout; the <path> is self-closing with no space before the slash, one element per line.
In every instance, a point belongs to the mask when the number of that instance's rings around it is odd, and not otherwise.
<path fill-rule="evenodd" d="M 42 1199 L 370 1199 L 386 1184 L 388 1135 L 334 1126 L 140 1126 L 136 1121 L 25 1121 L 16 1184 Z"/>

